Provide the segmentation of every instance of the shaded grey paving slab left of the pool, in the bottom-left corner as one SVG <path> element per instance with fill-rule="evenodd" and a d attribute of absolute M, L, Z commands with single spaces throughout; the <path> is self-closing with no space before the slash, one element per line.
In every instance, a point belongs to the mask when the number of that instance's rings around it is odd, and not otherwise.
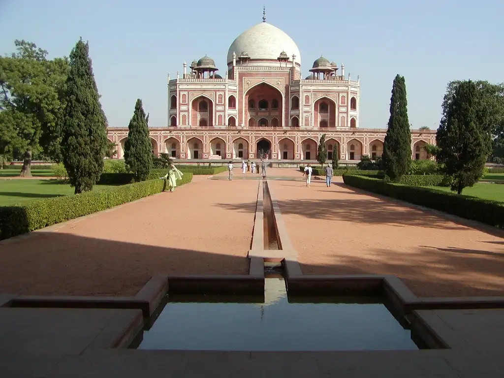
<path fill-rule="evenodd" d="M 44 376 L 62 356 L 82 353 L 119 317 L 133 320 L 139 314 L 140 310 L 0 308 L 0 376 Z M 118 330 L 112 339 L 123 332 Z"/>

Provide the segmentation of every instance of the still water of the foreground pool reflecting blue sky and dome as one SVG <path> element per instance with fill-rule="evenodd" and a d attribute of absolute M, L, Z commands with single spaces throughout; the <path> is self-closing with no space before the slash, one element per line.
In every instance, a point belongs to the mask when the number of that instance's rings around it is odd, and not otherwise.
<path fill-rule="evenodd" d="M 283 278 L 265 280 L 264 303 L 212 300 L 168 302 L 138 349 L 418 349 L 383 304 L 289 303 Z"/>

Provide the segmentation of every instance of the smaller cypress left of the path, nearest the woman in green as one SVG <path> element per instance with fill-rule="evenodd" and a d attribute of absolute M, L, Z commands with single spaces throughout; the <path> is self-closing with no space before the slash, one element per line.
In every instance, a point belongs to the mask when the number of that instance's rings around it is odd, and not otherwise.
<path fill-rule="evenodd" d="M 137 100 L 128 128 L 130 132 L 124 144 L 124 162 L 136 181 L 144 181 L 152 168 L 152 145 L 141 99 Z"/>

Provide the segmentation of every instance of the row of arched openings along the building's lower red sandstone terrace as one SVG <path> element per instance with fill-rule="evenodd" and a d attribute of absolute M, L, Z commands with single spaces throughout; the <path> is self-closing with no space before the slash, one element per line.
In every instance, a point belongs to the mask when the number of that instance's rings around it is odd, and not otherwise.
<path fill-rule="evenodd" d="M 119 141 L 119 148 L 117 151 L 117 158 L 124 157 L 124 143 L 127 138 Z M 110 141 L 110 140 L 109 140 Z M 111 141 L 110 141 L 111 142 Z M 328 151 L 328 159 L 333 158 L 333 154 L 341 154 L 340 143 L 330 138 L 326 140 L 326 149 Z M 158 155 L 159 153 L 167 153 L 173 158 L 180 158 L 180 142 L 178 139 L 171 137 L 164 141 L 161 151 L 158 151 L 158 143 L 155 139 L 151 138 L 152 153 Z M 428 159 L 427 152 L 423 148 L 427 142 L 420 140 L 413 144 L 414 160 Z M 244 138 L 236 138 L 232 142 L 232 158 L 233 159 L 247 159 L 249 157 L 249 144 Z M 260 158 L 260 154 L 267 154 L 271 158 L 272 142 L 267 138 L 261 138 L 256 144 L 256 158 Z M 294 160 L 295 147 L 294 141 L 289 137 L 284 137 L 278 141 L 277 145 L 277 158 L 279 160 Z M 352 139 L 346 144 L 346 160 L 359 161 L 364 153 L 363 144 L 357 139 Z M 301 160 L 316 160 L 317 159 L 318 142 L 312 138 L 306 138 L 301 142 L 300 159 Z M 198 137 L 193 137 L 186 142 L 187 159 L 203 159 L 203 141 Z M 368 156 L 371 160 L 376 160 L 383 154 L 383 142 L 375 139 L 368 145 Z M 219 137 L 215 137 L 209 142 L 209 153 L 214 158 L 221 156 L 226 159 L 226 142 Z M 341 156 L 340 156 L 341 158 Z"/>

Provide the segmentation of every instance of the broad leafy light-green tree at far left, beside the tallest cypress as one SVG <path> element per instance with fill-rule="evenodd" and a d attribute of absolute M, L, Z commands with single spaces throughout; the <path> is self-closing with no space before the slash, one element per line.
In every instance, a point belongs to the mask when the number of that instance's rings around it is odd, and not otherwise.
<path fill-rule="evenodd" d="M 2 143 L 23 153 L 21 176 L 31 176 L 33 154 L 58 160 L 62 90 L 68 74 L 66 58 L 47 60 L 47 51 L 16 40 L 17 52 L 0 57 L 0 121 Z M 8 135 L 8 137 L 4 137 Z M 1 143 L 0 143 L 1 144 Z"/>

